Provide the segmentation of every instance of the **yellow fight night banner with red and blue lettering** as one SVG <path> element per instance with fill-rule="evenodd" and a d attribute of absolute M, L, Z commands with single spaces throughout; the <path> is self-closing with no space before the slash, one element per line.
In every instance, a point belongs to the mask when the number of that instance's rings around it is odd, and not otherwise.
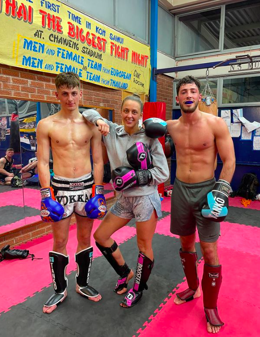
<path fill-rule="evenodd" d="M 148 93 L 150 48 L 55 0 L 0 0 L 0 63 Z"/>

